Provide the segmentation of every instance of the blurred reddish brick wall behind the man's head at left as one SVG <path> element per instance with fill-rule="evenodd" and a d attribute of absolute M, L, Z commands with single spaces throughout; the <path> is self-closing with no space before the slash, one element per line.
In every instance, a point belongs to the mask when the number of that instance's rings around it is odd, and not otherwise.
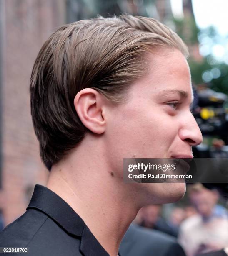
<path fill-rule="evenodd" d="M 29 81 L 35 57 L 50 33 L 65 20 L 64 0 L 1 0 L 3 38 L 2 189 L 5 225 L 23 214 L 34 184 L 45 184 L 30 117 Z"/>

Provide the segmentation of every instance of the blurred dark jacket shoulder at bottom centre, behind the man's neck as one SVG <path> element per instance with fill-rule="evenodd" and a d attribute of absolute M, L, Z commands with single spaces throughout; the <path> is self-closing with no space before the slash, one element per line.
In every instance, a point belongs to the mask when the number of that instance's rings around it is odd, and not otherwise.
<path fill-rule="evenodd" d="M 174 237 L 135 224 L 125 233 L 120 253 L 124 256 L 185 256 Z"/>

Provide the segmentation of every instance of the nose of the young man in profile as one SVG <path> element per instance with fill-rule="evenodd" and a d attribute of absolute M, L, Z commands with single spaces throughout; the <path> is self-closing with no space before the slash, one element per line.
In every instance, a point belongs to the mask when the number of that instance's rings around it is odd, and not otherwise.
<path fill-rule="evenodd" d="M 202 133 L 192 113 L 183 117 L 179 137 L 188 142 L 190 146 L 199 145 L 203 141 Z"/>

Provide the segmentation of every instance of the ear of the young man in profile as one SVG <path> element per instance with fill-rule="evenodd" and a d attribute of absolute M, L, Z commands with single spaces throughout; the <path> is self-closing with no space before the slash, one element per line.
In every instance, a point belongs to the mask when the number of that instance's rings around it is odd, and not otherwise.
<path fill-rule="evenodd" d="M 75 96 L 74 106 L 86 128 L 97 134 L 105 132 L 105 99 L 102 94 L 92 88 L 80 90 Z"/>

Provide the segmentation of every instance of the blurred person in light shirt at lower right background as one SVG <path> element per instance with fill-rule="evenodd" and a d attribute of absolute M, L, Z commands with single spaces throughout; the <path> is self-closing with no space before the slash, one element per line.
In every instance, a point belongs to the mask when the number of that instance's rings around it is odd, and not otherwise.
<path fill-rule="evenodd" d="M 198 214 L 180 225 L 179 242 L 188 256 L 216 251 L 228 245 L 227 210 L 217 205 L 217 190 L 202 184 L 189 186 L 188 196 Z"/>

